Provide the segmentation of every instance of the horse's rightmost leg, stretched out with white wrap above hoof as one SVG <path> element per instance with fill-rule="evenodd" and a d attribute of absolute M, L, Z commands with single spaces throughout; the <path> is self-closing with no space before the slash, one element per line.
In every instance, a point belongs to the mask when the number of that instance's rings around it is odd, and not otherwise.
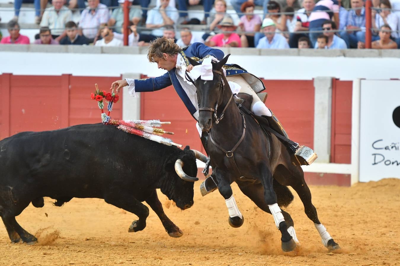
<path fill-rule="evenodd" d="M 340 246 L 333 240 L 328 231 L 326 231 L 324 225 L 322 225 L 318 219 L 317 210 L 311 202 L 311 192 L 306 184 L 306 181 L 304 180 L 303 171 L 295 166 L 291 166 L 290 168 L 292 168 L 289 170 L 292 170 L 294 176 L 291 179 L 292 184 L 290 185 L 303 202 L 304 212 L 306 213 L 307 217 L 314 222 L 314 225 L 321 236 L 322 244 L 324 244 L 328 250 L 340 249 Z"/>

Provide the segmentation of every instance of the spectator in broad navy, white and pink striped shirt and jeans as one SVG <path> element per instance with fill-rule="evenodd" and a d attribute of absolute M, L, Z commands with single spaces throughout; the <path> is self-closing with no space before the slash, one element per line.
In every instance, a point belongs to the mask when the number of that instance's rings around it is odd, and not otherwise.
<path fill-rule="evenodd" d="M 328 10 L 332 10 L 332 12 L 328 12 Z M 318 3 L 315 4 L 308 21 L 310 22 L 310 40 L 311 43 L 314 44 L 317 41 L 318 35 L 320 32 L 313 32 L 313 31 L 320 31 L 322 30 L 322 23 L 325 20 L 331 20 L 332 17 L 337 25 L 339 23 L 339 2 L 338 0 L 320 0 Z"/>

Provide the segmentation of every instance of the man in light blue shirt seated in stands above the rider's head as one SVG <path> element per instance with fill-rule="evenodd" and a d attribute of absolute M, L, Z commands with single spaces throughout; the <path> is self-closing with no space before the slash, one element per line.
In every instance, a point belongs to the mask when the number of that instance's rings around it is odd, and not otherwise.
<path fill-rule="evenodd" d="M 176 8 L 168 6 L 170 0 L 161 0 L 161 5 L 155 7 L 148 12 L 146 20 L 146 28 L 152 30 L 152 35 L 162 36 L 162 27 L 166 25 L 174 25 L 178 21 L 178 10 Z"/>

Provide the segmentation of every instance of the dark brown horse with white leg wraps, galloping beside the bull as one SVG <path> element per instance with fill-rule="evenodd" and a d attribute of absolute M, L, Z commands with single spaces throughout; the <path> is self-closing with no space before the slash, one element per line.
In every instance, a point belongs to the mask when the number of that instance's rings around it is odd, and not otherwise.
<path fill-rule="evenodd" d="M 248 114 L 242 114 L 232 99 L 232 91 L 222 71 L 228 57 L 212 63 L 212 81 L 199 78 L 194 84 L 199 102 L 198 122 L 202 131 L 208 132 L 205 148 L 211 159 L 218 190 L 228 207 L 229 224 L 240 227 L 244 221 L 230 187 L 236 182 L 260 209 L 272 214 L 282 234 L 282 250 L 294 250 L 298 239 L 293 220 L 280 209 L 293 200 L 292 193 L 286 187 L 291 186 L 302 200 L 304 211 L 314 222 L 324 246 L 329 250 L 340 248 L 318 219 L 300 165 L 292 164 L 293 158 L 286 146 L 276 136 L 264 134 L 256 120 Z M 193 60 L 190 62 L 199 65 Z"/>

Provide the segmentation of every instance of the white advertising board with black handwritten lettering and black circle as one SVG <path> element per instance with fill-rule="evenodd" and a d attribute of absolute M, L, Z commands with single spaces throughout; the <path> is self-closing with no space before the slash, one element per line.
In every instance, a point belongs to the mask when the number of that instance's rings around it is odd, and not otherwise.
<path fill-rule="evenodd" d="M 362 80 L 360 181 L 400 178 L 400 81 Z"/>

